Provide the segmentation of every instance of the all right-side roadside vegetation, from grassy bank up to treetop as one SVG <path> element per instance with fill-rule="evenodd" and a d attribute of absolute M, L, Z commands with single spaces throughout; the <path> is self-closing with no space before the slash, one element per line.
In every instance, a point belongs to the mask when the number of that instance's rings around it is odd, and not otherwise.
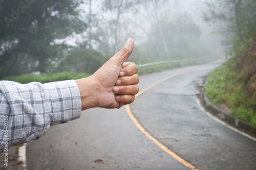
<path fill-rule="evenodd" d="M 208 4 L 210 13 L 204 18 L 227 23 L 231 58 L 209 74 L 205 90 L 212 103 L 228 107 L 233 115 L 256 125 L 256 4 L 252 0 L 219 2 L 224 8 L 231 7 L 230 11 L 217 13 Z"/>

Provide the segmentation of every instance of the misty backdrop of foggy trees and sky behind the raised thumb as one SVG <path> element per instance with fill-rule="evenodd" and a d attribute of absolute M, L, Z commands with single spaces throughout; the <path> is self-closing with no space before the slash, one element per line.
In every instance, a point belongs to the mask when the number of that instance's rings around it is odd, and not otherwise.
<path fill-rule="evenodd" d="M 128 38 L 135 42 L 129 61 L 138 65 L 223 57 L 221 43 L 228 39 L 224 22 L 203 19 L 204 1 L 2 0 L 0 9 L 2 79 L 32 72 L 90 75 Z"/>

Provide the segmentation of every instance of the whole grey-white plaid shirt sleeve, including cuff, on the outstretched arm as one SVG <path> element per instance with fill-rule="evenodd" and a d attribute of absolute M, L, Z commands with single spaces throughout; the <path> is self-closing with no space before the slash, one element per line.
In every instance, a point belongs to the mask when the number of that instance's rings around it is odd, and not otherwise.
<path fill-rule="evenodd" d="M 80 93 L 74 80 L 46 84 L 0 81 L 0 153 L 6 141 L 10 147 L 38 139 L 50 126 L 80 115 Z"/>

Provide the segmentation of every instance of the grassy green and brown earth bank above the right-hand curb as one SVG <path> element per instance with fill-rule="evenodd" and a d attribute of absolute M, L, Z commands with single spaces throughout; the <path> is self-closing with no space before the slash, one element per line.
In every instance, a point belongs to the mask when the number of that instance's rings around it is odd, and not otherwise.
<path fill-rule="evenodd" d="M 242 51 L 209 74 L 205 90 L 212 103 L 256 125 L 256 44 Z"/>

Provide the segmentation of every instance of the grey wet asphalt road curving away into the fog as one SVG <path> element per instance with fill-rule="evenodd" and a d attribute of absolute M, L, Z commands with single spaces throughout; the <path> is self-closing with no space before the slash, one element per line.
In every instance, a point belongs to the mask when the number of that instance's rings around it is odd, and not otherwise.
<path fill-rule="evenodd" d="M 196 102 L 196 85 L 220 62 L 141 76 L 131 105 L 141 125 L 198 169 L 256 169 L 256 142 L 216 122 Z M 165 127 L 165 128 L 162 128 Z M 27 169 L 189 169 L 135 126 L 124 107 L 89 109 L 27 144 Z"/>

